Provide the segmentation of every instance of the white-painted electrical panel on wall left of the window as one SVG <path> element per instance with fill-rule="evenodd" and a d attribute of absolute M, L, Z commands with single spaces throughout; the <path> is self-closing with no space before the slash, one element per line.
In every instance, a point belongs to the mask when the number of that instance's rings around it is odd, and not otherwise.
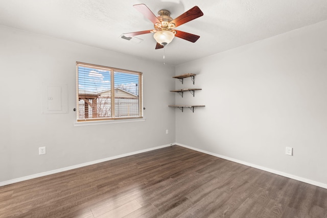
<path fill-rule="evenodd" d="M 67 85 L 43 85 L 43 114 L 68 113 Z"/>

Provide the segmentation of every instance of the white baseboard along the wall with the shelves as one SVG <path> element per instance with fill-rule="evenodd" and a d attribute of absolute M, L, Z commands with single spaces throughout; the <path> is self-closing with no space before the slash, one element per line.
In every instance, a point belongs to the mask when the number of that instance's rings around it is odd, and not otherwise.
<path fill-rule="evenodd" d="M 257 168 L 257 169 L 262 169 L 263 171 L 266 171 L 266 172 L 269 172 L 269 173 L 277 174 L 279 176 L 284 176 L 284 177 L 287 177 L 287 178 L 290 178 L 290 179 L 295 179 L 295 180 L 300 181 L 300 182 L 305 182 L 305 183 L 308 183 L 308 184 L 311 184 L 311 185 L 315 185 L 315 186 L 319 186 L 319 187 L 327 189 L 327 184 L 324 184 L 324 183 L 321 183 L 321 182 L 316 182 L 316 181 L 313 181 L 313 180 L 310 180 L 310 179 L 294 176 L 294 175 L 287 174 L 287 173 L 284 173 L 284 172 L 281 172 L 281 171 L 276 171 L 275 169 L 270 169 L 270 168 L 267 168 L 267 167 L 255 165 L 255 164 L 252 164 L 252 163 L 248 163 L 248 162 L 245 162 L 245 161 L 242 161 L 242 160 L 237 160 L 237 159 L 234 159 L 234 158 L 226 157 L 226 156 L 215 154 L 215 153 L 212 153 L 212 152 L 207 152 L 207 151 L 204 151 L 204 150 L 201 150 L 201 149 L 186 146 L 185 144 L 180 144 L 180 143 L 175 143 L 175 144 L 177 146 L 180 146 L 180 147 L 184 147 L 184 148 L 187 148 L 187 149 L 192 149 L 194 151 L 198 151 L 198 152 L 201 152 L 201 153 L 204 153 L 204 154 L 208 154 L 208 155 L 212 155 L 212 156 L 219 157 L 219 158 L 222 158 L 222 159 L 230 160 L 230 161 L 240 163 L 240 164 L 243 164 L 243 165 L 247 165 L 247 166 L 251 166 L 251 167 L 254 167 L 254 168 Z"/>

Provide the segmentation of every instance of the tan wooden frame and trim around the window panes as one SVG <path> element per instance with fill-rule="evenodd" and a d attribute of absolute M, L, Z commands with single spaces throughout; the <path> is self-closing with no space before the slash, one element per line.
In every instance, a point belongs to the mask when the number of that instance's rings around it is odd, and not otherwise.
<path fill-rule="evenodd" d="M 115 92 L 112 90 L 115 90 L 114 88 L 114 72 L 119 71 L 119 72 L 125 72 L 128 74 L 134 74 L 138 75 L 138 116 L 129 116 L 129 117 L 104 117 L 104 118 L 79 118 L 79 72 L 78 72 L 78 67 L 90 67 L 90 68 L 95 68 L 95 69 L 100 69 L 100 70 L 110 70 L 110 86 L 111 86 L 111 98 L 115 99 L 114 95 Z M 76 104 L 77 104 L 77 114 L 76 114 L 76 122 L 104 122 L 104 121 L 109 121 L 109 120 L 131 120 L 131 119 L 142 119 L 143 118 L 143 72 L 139 71 L 134 71 L 134 70 L 127 70 L 127 69 L 121 69 L 121 68 L 115 68 L 115 67 L 109 67 L 109 66 L 102 66 L 102 65 L 97 65 L 97 64 L 89 64 L 89 63 L 84 63 L 84 62 L 79 62 L 76 61 Z M 115 114 L 115 101 L 111 101 L 111 115 Z M 131 120 L 132 122 L 132 120 Z M 112 123 L 112 122 L 111 122 Z M 118 122 L 117 122 L 118 123 Z M 122 123 L 122 122 L 119 122 Z M 79 126 L 79 125 L 74 125 L 74 126 Z"/>

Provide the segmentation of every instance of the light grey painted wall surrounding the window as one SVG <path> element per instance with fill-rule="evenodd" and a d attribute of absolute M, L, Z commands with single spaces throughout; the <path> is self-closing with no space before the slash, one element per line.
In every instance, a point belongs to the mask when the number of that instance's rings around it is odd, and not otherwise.
<path fill-rule="evenodd" d="M 142 71 L 146 121 L 74 127 L 76 61 Z M 0 66 L 0 182 L 175 141 L 172 66 L 1 26 Z M 68 113 L 42 114 L 43 85 L 65 84 Z"/>

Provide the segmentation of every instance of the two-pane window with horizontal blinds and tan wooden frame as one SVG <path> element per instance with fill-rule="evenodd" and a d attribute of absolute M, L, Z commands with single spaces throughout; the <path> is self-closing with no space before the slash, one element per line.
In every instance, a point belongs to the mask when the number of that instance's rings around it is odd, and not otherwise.
<path fill-rule="evenodd" d="M 76 62 L 77 122 L 143 117 L 142 72 Z"/>

